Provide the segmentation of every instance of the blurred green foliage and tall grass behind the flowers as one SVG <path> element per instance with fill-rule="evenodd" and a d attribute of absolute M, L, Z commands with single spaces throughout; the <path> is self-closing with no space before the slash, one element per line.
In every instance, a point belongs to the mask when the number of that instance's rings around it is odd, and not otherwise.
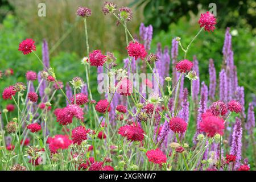
<path fill-rule="evenodd" d="M 46 3 L 46 17 L 38 16 L 38 4 L 42 2 Z M 139 35 L 139 25 L 142 22 L 146 26 L 152 24 L 154 35 L 151 52 L 155 52 L 158 42 L 171 49 L 171 40 L 176 36 L 180 36 L 183 45 L 187 45 L 199 30 L 197 20 L 200 13 L 209 10 L 208 5 L 212 1 L 113 2 L 118 7 L 129 6 L 133 9 L 133 19 L 128 23 L 133 35 Z M 82 57 L 85 56 L 85 34 L 84 23 L 76 15 L 79 6 L 92 9 L 92 16 L 88 18 L 90 51 L 113 51 L 118 57 L 117 63 L 122 63 L 123 58 L 127 56 L 125 33 L 122 26 L 115 25 L 113 16 L 101 13 L 103 3 L 104 1 L 95 0 L 1 0 L 0 70 L 5 72 L 6 69 L 12 68 L 14 76 L 4 77 L 4 80 L 0 81 L 0 91 L 16 81 L 25 81 L 24 75 L 28 70 L 38 72 L 42 69 L 34 55 L 24 56 L 18 51 L 19 43 L 26 38 L 35 40 L 36 52 L 39 55 L 42 52 L 42 40 L 47 40 L 50 64 L 55 68 L 59 80 L 67 82 L 75 76 L 85 77 L 84 67 L 80 64 Z M 192 59 L 193 55 L 197 56 L 201 81 L 208 83 L 208 60 L 214 59 L 218 74 L 222 63 L 225 28 L 229 26 L 232 33 L 234 62 L 238 69 L 239 84 L 245 87 L 247 107 L 253 100 L 252 93 L 256 94 L 256 2 L 214 3 L 217 5 L 217 29 L 214 32 L 200 34 L 189 50 L 188 59 Z M 97 72 L 94 68 L 93 71 Z M 94 91 L 97 89 L 96 76 L 97 74 L 92 75 Z"/>

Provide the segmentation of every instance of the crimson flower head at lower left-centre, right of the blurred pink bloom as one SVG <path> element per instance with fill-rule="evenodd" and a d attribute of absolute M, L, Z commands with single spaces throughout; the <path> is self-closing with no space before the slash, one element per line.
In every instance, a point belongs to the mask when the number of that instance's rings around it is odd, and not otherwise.
<path fill-rule="evenodd" d="M 87 134 L 89 133 L 89 129 L 86 130 L 84 126 L 76 127 L 72 130 L 72 141 L 73 143 L 77 143 L 80 145 L 83 140 L 87 139 Z"/>

